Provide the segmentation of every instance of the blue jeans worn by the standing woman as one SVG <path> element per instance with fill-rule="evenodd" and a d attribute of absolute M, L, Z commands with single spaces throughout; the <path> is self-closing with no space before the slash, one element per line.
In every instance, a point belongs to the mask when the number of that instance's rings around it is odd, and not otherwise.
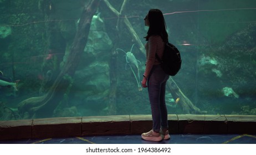
<path fill-rule="evenodd" d="M 165 104 L 165 89 L 169 75 L 165 74 L 160 65 L 153 65 L 147 81 L 153 131 L 160 132 L 160 128 L 168 128 L 167 108 Z"/>

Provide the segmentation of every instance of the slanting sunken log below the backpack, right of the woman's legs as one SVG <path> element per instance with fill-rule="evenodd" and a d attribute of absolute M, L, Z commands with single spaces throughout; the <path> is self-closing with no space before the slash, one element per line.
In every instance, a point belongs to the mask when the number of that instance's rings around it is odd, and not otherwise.
<path fill-rule="evenodd" d="M 206 114 L 207 111 L 201 111 L 198 107 L 193 105 L 193 103 L 188 99 L 186 95 L 183 94 L 180 87 L 176 82 L 170 77 L 167 81 L 167 88 L 170 90 L 173 99 L 178 99 L 178 105 L 182 107 L 182 112 L 186 114 Z"/>

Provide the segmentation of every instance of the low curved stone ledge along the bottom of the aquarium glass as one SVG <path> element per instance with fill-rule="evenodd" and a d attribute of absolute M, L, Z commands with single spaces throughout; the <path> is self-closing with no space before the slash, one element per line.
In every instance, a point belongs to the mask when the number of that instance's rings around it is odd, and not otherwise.
<path fill-rule="evenodd" d="M 168 115 L 171 134 L 255 134 L 256 115 Z M 137 135 L 152 128 L 151 115 L 55 117 L 0 121 L 0 140 Z"/>

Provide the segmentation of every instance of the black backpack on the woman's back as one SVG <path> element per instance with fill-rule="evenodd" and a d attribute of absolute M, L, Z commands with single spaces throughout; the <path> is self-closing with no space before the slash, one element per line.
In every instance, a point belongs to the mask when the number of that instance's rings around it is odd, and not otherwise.
<path fill-rule="evenodd" d="M 161 60 L 157 54 L 156 58 L 160 61 L 163 71 L 168 75 L 175 76 L 181 69 L 181 53 L 176 46 L 171 43 L 167 42 L 165 44 L 163 59 Z"/>

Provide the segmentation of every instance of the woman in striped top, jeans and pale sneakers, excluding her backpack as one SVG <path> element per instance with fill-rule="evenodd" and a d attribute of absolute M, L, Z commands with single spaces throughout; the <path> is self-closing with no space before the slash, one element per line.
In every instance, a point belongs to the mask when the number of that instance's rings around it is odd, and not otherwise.
<path fill-rule="evenodd" d="M 145 25 L 149 27 L 146 38 L 146 69 L 142 80 L 142 87 L 147 87 L 151 105 L 153 128 L 142 133 L 142 139 L 146 141 L 161 141 L 169 139 L 167 108 L 165 104 L 165 88 L 169 75 L 165 74 L 156 59 L 163 56 L 165 43 L 168 41 L 165 19 L 159 9 L 150 9 L 144 18 Z"/>

